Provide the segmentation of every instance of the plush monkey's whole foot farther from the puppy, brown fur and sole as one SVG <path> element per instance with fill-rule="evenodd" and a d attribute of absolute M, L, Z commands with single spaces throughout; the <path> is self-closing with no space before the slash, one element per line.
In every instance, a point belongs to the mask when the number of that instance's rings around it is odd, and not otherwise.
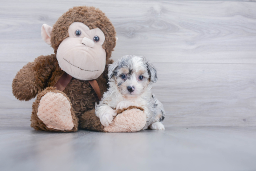
<path fill-rule="evenodd" d="M 77 131 L 77 118 L 65 93 L 48 87 L 33 104 L 31 126 L 53 132 Z"/>

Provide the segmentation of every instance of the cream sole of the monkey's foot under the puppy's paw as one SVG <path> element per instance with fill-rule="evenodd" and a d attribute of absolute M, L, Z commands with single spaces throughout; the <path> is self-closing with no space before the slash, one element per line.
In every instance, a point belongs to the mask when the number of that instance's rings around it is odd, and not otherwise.
<path fill-rule="evenodd" d="M 130 109 L 118 114 L 104 127 L 105 132 L 137 132 L 146 125 L 146 115 L 140 109 Z"/>

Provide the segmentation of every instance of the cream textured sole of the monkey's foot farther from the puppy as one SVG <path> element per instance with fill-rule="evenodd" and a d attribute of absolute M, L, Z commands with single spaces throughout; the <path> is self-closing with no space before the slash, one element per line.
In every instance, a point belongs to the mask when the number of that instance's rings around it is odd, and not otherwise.
<path fill-rule="evenodd" d="M 71 105 L 61 93 L 47 92 L 38 106 L 37 116 L 48 128 L 56 130 L 72 130 Z"/>

